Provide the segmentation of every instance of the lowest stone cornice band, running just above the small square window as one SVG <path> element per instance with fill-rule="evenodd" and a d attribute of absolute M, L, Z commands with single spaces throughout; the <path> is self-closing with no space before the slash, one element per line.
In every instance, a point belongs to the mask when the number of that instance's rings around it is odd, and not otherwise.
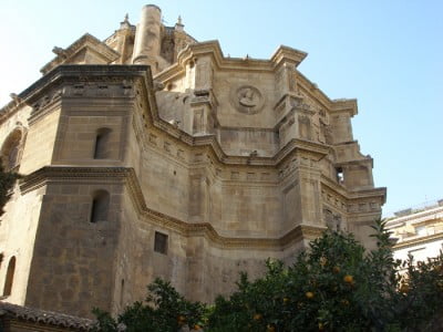
<path fill-rule="evenodd" d="M 184 220 L 167 216 L 145 204 L 142 189 L 138 184 L 135 170 L 125 167 L 66 167 L 45 166 L 25 176 L 20 181 L 20 189 L 23 194 L 42 187 L 47 184 L 63 180 L 81 179 L 106 179 L 109 181 L 124 181 L 135 209 L 146 222 L 169 228 L 186 237 L 203 236 L 214 245 L 223 248 L 240 249 L 255 248 L 262 250 L 284 250 L 290 243 L 302 238 L 313 239 L 321 235 L 324 227 L 299 225 L 279 238 L 253 238 L 253 237 L 225 237 L 220 236 L 209 222 L 186 222 Z"/>

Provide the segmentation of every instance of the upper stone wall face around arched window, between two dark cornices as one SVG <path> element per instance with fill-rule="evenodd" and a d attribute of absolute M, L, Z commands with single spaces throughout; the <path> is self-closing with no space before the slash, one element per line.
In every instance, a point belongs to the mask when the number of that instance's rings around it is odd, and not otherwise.
<path fill-rule="evenodd" d="M 102 84 L 102 87 L 97 84 L 82 86 L 82 90 L 99 91 L 90 94 L 90 97 L 80 96 L 63 101 L 53 164 L 121 165 L 125 155 L 131 103 L 126 100 L 116 102 L 106 97 L 113 95 L 119 86 L 109 84 Z M 105 152 L 96 157 L 94 156 L 96 139 L 103 131 L 109 132 Z"/>

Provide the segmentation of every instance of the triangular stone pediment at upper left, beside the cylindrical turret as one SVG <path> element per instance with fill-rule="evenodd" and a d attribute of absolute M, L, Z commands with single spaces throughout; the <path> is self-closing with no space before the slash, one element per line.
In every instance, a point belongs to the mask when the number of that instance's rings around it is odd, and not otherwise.
<path fill-rule="evenodd" d="M 54 48 L 52 51 L 56 56 L 40 70 L 42 74 L 60 64 L 110 64 L 120 56 L 116 51 L 89 33 L 66 49 Z"/>

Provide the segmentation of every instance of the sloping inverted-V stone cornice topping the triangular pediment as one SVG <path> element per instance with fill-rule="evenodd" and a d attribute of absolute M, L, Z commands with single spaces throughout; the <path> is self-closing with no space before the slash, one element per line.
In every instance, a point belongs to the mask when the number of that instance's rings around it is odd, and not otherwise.
<path fill-rule="evenodd" d="M 71 45 L 69 45 L 65 50 L 63 50 L 62 54 L 58 54 L 52 61 L 47 63 L 40 71 L 45 74 L 55 66 L 69 61 L 69 59 L 74 56 L 78 52 L 86 48 L 99 53 L 101 56 L 107 60 L 107 62 L 113 62 L 120 56 L 117 52 L 115 52 L 104 42 L 100 41 L 89 33 L 85 33 L 80 39 L 74 41 Z"/>

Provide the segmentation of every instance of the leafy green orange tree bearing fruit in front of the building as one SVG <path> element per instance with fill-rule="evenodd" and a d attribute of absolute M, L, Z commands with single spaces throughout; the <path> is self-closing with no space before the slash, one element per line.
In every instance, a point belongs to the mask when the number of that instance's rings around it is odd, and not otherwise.
<path fill-rule="evenodd" d="M 374 229 L 375 250 L 367 252 L 351 235 L 327 231 L 290 267 L 268 260 L 261 278 L 251 281 L 241 273 L 237 290 L 228 298 L 218 297 L 212 307 L 187 302 L 171 284 L 157 280 L 150 287 L 157 299 L 154 307 L 136 303 L 117 320 L 104 314 L 99 326 L 102 331 L 115 331 L 119 323 L 127 331 L 178 331 L 186 324 L 213 332 L 430 330 L 443 309 L 443 255 L 416 267 L 411 259 L 394 261 L 383 224 Z M 400 276 L 402 267 L 406 272 Z"/>

